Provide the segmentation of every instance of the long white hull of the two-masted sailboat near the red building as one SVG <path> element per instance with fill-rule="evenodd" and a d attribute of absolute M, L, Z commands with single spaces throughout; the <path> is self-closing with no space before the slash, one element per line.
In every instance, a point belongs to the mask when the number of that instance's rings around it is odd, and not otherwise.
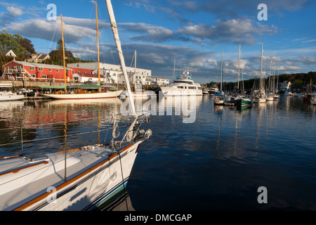
<path fill-rule="evenodd" d="M 104 93 L 87 93 L 87 94 L 41 94 L 48 98 L 55 99 L 88 99 L 88 98 L 116 98 L 121 94 L 119 91 L 107 91 Z"/>

